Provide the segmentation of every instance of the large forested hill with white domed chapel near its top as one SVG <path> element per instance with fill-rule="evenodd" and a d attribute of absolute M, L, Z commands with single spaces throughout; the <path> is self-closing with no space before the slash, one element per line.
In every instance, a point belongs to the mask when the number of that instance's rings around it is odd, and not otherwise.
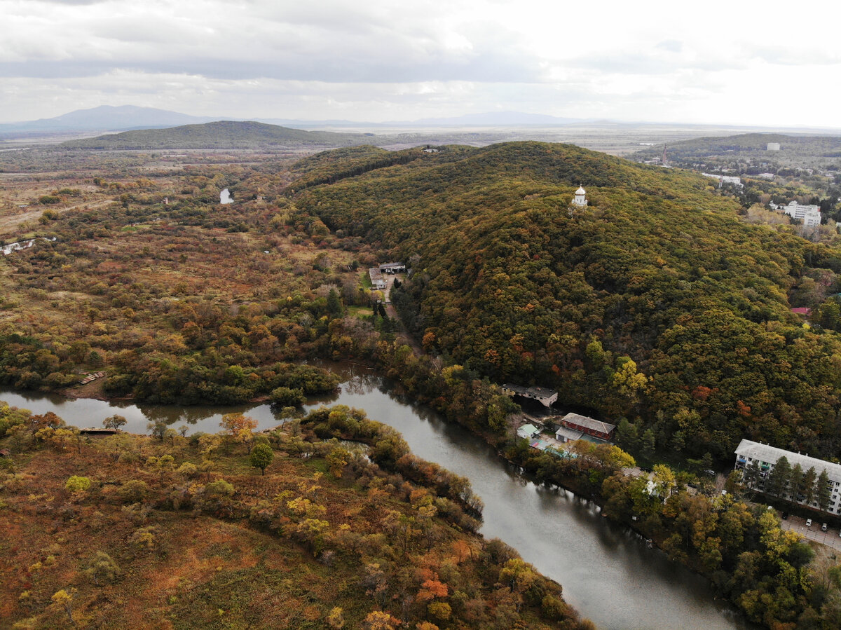
<path fill-rule="evenodd" d="M 575 146 L 382 158 L 324 154 L 291 188 L 337 234 L 414 257 L 393 296 L 430 352 L 627 417 L 649 447 L 839 454 L 841 343 L 788 297 L 838 292 L 838 251 L 744 224 L 703 177 Z M 590 205 L 570 212 L 579 183 Z"/>

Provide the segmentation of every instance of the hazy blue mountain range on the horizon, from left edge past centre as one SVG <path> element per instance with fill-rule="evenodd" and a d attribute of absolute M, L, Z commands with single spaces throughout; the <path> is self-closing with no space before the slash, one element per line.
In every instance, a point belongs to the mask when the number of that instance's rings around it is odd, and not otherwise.
<path fill-rule="evenodd" d="M 134 105 L 102 105 L 93 109 L 77 109 L 69 114 L 55 118 L 29 120 L 19 123 L 0 124 L 0 137 L 20 137 L 24 135 L 46 135 L 86 131 L 128 131 L 177 127 L 184 124 L 202 124 L 219 120 L 243 121 L 240 118 L 213 116 L 191 116 L 166 109 L 135 107 Z M 452 118 L 429 118 L 415 121 L 394 121 L 390 123 L 366 123 L 350 120 L 300 120 L 300 119 L 256 119 L 257 122 L 280 124 L 287 127 L 394 127 L 394 126 L 486 126 L 486 125 L 525 125 L 525 124 L 571 124 L 582 122 L 581 119 L 558 118 L 543 114 L 522 114 L 520 112 L 495 112 L 488 114 L 467 114 Z"/>

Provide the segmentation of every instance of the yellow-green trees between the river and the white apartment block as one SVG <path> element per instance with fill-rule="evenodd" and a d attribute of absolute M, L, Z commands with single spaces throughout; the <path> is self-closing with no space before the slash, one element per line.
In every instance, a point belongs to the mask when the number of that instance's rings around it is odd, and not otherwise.
<path fill-rule="evenodd" d="M 828 565 L 812 563 L 809 544 L 782 529 L 775 511 L 748 502 L 737 476 L 726 492 L 705 494 L 688 485 L 693 475 L 664 464 L 652 474 L 628 474 L 622 468 L 633 460 L 618 447 L 575 442 L 570 452 L 573 457 L 558 458 L 516 439 L 505 457 L 543 483 L 597 500 L 605 516 L 705 575 L 751 622 L 775 630 L 838 627 L 841 565 L 834 556 Z"/>

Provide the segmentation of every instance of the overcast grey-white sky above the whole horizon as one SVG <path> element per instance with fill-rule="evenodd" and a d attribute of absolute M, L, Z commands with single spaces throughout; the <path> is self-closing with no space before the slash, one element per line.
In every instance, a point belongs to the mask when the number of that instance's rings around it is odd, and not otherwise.
<path fill-rule="evenodd" d="M 841 2 L 0 0 L 0 122 L 125 104 L 841 128 Z"/>

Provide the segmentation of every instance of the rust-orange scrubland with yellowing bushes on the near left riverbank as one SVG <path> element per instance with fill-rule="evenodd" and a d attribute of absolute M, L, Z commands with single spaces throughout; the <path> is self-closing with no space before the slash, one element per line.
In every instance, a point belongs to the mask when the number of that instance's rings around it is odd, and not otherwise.
<path fill-rule="evenodd" d="M 465 479 L 362 411 L 317 410 L 252 436 L 251 454 L 230 431 L 87 439 L 57 417 L 3 417 L 14 627 L 593 627 L 472 533 Z M 368 455 L 316 435 L 331 431 Z"/>

